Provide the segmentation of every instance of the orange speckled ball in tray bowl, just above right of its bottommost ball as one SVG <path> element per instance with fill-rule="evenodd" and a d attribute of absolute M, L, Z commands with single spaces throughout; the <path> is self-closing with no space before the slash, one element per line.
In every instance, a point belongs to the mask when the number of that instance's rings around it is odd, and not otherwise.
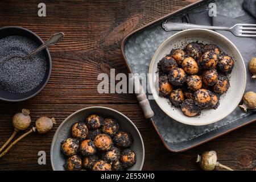
<path fill-rule="evenodd" d="M 196 104 L 201 107 L 207 107 L 210 104 L 211 97 L 209 90 L 199 89 L 195 92 Z"/>

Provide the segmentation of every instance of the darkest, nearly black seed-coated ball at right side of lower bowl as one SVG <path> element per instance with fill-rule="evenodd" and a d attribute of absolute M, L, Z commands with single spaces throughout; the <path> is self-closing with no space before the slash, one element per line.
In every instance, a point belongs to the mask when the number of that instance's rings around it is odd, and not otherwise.
<path fill-rule="evenodd" d="M 114 135 L 113 142 L 117 147 L 126 148 L 133 143 L 133 137 L 131 137 L 131 134 L 126 133 L 125 131 L 119 131 L 116 135 Z"/>

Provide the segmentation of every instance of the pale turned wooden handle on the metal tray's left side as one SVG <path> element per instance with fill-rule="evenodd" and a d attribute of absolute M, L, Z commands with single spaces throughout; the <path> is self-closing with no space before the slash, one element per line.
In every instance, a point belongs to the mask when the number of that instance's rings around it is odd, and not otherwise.
<path fill-rule="evenodd" d="M 144 117 L 146 119 L 152 118 L 154 116 L 154 111 L 151 109 L 150 102 L 147 99 L 146 92 L 144 92 L 141 82 L 139 81 L 139 77 L 137 76 L 131 77 L 130 81 L 133 81 L 134 92 L 137 96 L 137 100 L 139 101 L 139 105 L 142 108 Z M 139 84 L 136 84 L 136 83 L 139 83 Z"/>

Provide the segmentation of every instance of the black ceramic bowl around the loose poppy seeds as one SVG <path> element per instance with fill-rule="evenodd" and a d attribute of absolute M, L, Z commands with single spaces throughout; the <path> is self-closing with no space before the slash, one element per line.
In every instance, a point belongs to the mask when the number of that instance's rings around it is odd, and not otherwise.
<path fill-rule="evenodd" d="M 27 30 L 26 28 L 16 27 L 16 26 L 0 28 L 0 39 L 5 38 L 6 36 L 13 36 L 13 35 L 26 36 L 27 38 L 34 40 L 34 42 L 38 43 L 39 45 L 42 45 L 44 43 L 43 40 L 39 38 L 38 35 L 36 35 L 34 32 L 30 30 Z M 44 76 L 43 81 L 35 89 L 30 90 L 29 92 L 26 92 L 26 93 L 11 93 L 0 88 L 0 100 L 9 101 L 9 102 L 19 102 L 19 101 L 28 100 L 29 98 L 36 96 L 36 94 L 38 94 L 44 88 L 44 86 L 46 86 L 49 80 L 49 77 L 51 76 L 52 59 L 51 59 L 49 50 L 47 48 L 43 50 L 43 53 L 46 56 L 46 62 L 47 62 L 46 75 Z"/>

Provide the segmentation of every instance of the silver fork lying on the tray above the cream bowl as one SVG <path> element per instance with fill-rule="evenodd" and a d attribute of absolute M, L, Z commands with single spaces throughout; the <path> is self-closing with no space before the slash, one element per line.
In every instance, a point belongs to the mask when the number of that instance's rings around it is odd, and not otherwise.
<path fill-rule="evenodd" d="M 187 30 L 191 28 L 205 28 L 208 30 L 226 30 L 232 32 L 236 36 L 256 38 L 256 24 L 235 24 L 233 27 L 216 27 L 216 26 L 205 26 L 189 23 L 175 23 L 175 22 L 163 22 L 162 27 L 166 31 L 172 30 Z"/>

